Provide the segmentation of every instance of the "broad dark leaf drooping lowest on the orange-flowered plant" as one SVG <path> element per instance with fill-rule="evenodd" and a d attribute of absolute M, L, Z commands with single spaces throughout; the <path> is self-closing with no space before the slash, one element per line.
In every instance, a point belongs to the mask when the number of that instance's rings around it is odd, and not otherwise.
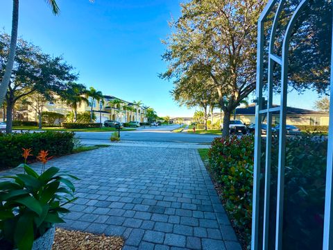
<path fill-rule="evenodd" d="M 33 248 L 33 215 L 24 213 L 17 221 L 14 240 L 19 250 L 31 250 Z"/>

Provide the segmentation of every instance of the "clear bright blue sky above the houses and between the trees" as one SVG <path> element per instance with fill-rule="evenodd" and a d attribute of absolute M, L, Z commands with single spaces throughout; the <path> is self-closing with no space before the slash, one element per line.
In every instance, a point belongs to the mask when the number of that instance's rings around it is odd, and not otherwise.
<path fill-rule="evenodd" d="M 78 82 L 127 101 L 142 100 L 160 116 L 192 116 L 169 94 L 172 83 L 158 78 L 180 0 L 58 0 L 54 16 L 42 0 L 20 1 L 19 35 L 46 53 L 63 55 L 76 67 Z M 10 33 L 12 1 L 1 1 L 0 27 Z M 316 94 L 293 94 L 290 106 L 312 108 Z"/>

